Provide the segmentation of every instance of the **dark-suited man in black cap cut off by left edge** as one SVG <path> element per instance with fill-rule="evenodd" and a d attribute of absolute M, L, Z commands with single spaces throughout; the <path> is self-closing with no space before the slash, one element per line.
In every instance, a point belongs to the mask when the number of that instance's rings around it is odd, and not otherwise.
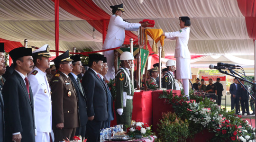
<path fill-rule="evenodd" d="M 0 72 L 4 69 L 4 43 L 0 43 Z M 6 66 L 5 66 L 6 67 Z M 1 83 L 1 81 L 0 81 Z M 1 84 L 3 85 L 3 84 Z M 4 103 L 2 97 L 2 86 L 0 90 L 0 142 L 4 142 Z"/>

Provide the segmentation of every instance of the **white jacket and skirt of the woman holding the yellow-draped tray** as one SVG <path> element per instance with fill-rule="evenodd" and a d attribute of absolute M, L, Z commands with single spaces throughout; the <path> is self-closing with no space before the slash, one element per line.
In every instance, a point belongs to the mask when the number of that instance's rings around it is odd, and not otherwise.
<path fill-rule="evenodd" d="M 190 52 L 188 49 L 190 27 L 177 32 L 165 33 L 167 39 L 176 39 L 174 58 L 176 58 L 177 79 L 192 79 Z"/>

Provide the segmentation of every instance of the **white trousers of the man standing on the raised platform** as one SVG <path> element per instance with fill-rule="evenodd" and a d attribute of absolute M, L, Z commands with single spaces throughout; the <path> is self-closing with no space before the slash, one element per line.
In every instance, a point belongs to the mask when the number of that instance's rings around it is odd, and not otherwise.
<path fill-rule="evenodd" d="M 116 75 L 115 75 L 115 67 L 114 67 L 114 60 L 115 60 L 114 50 L 105 51 L 103 52 L 103 55 L 107 57 L 107 63 L 109 67 L 109 70 L 104 78 L 106 80 L 115 79 Z"/>

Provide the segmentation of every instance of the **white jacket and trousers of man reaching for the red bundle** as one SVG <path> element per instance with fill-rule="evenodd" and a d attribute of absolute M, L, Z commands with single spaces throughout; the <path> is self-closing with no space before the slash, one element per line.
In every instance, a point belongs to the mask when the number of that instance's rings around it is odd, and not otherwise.
<path fill-rule="evenodd" d="M 125 40 L 125 30 L 136 31 L 141 24 L 139 23 L 128 23 L 123 21 L 123 18 L 117 15 L 110 17 L 110 23 L 108 27 L 108 33 L 104 41 L 102 49 L 110 49 L 120 47 Z M 107 57 L 107 63 L 109 70 L 105 75 L 105 79 L 115 79 L 115 68 L 114 68 L 114 51 L 103 52 L 103 55 Z"/>

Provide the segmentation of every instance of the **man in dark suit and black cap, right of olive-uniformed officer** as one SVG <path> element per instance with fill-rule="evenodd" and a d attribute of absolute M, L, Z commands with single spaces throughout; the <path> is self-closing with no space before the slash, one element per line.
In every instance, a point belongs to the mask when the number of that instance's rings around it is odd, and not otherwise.
<path fill-rule="evenodd" d="M 87 107 L 86 107 L 86 96 L 84 90 L 82 88 L 80 79 L 78 78 L 78 74 L 82 72 L 82 63 L 80 59 L 80 55 L 74 55 L 70 57 L 73 65 L 72 72 L 68 74 L 71 81 L 74 84 L 75 92 L 78 98 L 78 111 L 80 118 L 80 127 L 76 128 L 75 135 L 81 135 L 82 139 L 85 137 L 86 132 L 86 124 L 88 121 L 87 116 Z"/>

